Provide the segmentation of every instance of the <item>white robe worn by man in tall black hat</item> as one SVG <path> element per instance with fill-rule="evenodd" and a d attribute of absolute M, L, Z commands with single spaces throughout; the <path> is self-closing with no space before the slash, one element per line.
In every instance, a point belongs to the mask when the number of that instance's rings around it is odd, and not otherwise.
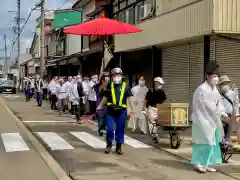
<path fill-rule="evenodd" d="M 216 145 L 216 128 L 220 138 L 223 138 L 220 99 L 221 95 L 217 88 L 212 88 L 207 82 L 197 88 L 193 96 L 191 116 L 193 143 Z"/>

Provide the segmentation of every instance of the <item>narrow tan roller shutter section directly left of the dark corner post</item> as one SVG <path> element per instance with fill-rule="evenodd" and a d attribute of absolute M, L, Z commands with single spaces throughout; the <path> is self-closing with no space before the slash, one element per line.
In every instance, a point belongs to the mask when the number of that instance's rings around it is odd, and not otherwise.
<path fill-rule="evenodd" d="M 204 45 L 196 43 L 190 45 L 190 63 L 189 63 L 189 104 L 192 104 L 192 98 L 197 87 L 203 82 L 204 78 Z"/>

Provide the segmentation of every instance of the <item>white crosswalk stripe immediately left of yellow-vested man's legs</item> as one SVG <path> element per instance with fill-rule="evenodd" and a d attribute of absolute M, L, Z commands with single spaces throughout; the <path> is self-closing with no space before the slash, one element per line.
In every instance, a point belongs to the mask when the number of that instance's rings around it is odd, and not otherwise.
<path fill-rule="evenodd" d="M 85 142 L 87 145 L 91 146 L 94 149 L 104 149 L 106 147 L 106 143 L 99 138 L 88 134 L 86 132 L 69 132 L 76 138 Z"/>

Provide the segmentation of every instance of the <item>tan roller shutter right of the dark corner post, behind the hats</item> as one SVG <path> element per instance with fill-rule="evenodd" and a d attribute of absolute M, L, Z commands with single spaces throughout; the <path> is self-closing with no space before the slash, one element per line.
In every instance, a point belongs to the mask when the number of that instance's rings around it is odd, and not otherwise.
<path fill-rule="evenodd" d="M 240 87 L 240 42 L 228 39 L 215 41 L 216 61 L 220 65 L 220 75 L 227 75 L 233 84 Z"/>

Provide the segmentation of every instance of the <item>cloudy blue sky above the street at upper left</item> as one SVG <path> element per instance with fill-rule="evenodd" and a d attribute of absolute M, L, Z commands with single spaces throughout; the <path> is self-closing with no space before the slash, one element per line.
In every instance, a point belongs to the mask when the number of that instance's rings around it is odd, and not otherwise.
<path fill-rule="evenodd" d="M 45 8 L 52 10 L 60 8 L 66 0 L 45 0 L 46 5 Z M 70 8 L 73 2 L 76 0 L 68 0 L 68 2 L 61 8 Z M 21 0 L 21 17 L 27 18 L 29 12 L 34 7 L 34 5 L 40 2 L 40 0 Z M 16 12 L 8 12 L 8 11 L 16 11 L 17 10 L 17 0 L 1 0 L 0 6 L 0 38 L 2 42 L 0 44 L 0 57 L 4 56 L 4 34 L 7 35 L 7 45 L 8 45 L 8 54 L 10 54 L 13 38 L 16 38 L 16 35 L 11 32 L 11 28 L 15 25 L 16 21 L 14 17 L 16 16 Z M 25 53 L 26 48 L 31 46 L 32 37 L 35 32 L 36 27 L 36 18 L 39 16 L 40 11 L 37 10 L 32 13 L 30 20 L 28 21 L 26 27 L 24 28 L 21 34 L 21 53 Z M 22 25 L 24 21 L 22 22 Z M 17 45 L 17 44 L 16 44 Z M 15 47 L 17 48 L 17 46 Z M 16 56 L 16 51 L 12 52 L 13 57 Z M 0 61 L 0 63 L 2 63 Z"/>

